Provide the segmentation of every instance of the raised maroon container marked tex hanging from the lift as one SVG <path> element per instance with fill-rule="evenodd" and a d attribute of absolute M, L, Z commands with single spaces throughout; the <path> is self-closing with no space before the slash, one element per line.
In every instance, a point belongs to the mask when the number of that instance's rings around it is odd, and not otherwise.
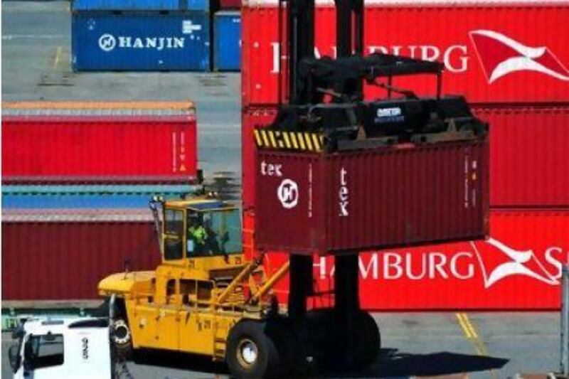
<path fill-rule="evenodd" d="M 341 253 L 487 235 L 488 143 L 257 150 L 255 243 Z M 436 222 L 433 222 L 436 220 Z"/>

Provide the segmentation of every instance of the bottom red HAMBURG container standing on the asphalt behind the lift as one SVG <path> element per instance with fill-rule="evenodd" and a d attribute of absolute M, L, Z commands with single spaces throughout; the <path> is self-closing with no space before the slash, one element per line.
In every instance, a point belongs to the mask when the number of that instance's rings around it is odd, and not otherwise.
<path fill-rule="evenodd" d="M 435 220 L 433 221 L 435 222 Z M 360 255 L 360 303 L 370 311 L 558 310 L 561 265 L 569 263 L 569 210 L 491 210 L 486 241 Z M 267 274 L 288 255 L 270 252 Z M 333 257 L 314 257 L 314 287 L 334 283 Z M 288 277 L 275 289 L 287 301 Z M 319 295 L 310 305 L 330 306 Z"/>

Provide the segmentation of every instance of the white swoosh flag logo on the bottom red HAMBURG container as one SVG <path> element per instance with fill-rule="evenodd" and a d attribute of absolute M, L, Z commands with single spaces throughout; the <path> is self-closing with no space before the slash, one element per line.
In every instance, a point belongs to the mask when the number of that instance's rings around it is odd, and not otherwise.
<path fill-rule="evenodd" d="M 471 241 L 470 244 L 472 245 L 474 252 L 476 252 L 480 263 L 480 267 L 482 268 L 482 275 L 484 276 L 484 288 L 488 289 L 496 282 L 499 282 L 501 279 L 505 279 L 506 277 L 511 277 L 513 275 L 525 275 L 526 277 L 532 277 L 533 279 L 537 279 L 540 282 L 550 285 L 559 284 L 558 279 L 555 279 L 555 277 L 553 277 L 553 275 L 551 275 L 545 269 L 545 267 L 541 265 L 541 262 L 539 262 L 539 260 L 536 258 L 535 254 L 533 253 L 533 250 L 526 250 L 526 251 L 514 250 L 511 247 L 505 245 L 504 243 L 494 238 L 489 238 L 488 240 L 486 240 L 486 243 L 488 243 L 493 247 L 496 247 L 496 249 L 503 252 L 512 261 L 498 265 L 494 270 L 492 270 L 492 272 L 490 272 L 490 274 L 488 274 L 482 262 L 482 255 L 478 251 L 476 244 Z M 524 266 L 524 264 L 528 263 L 530 260 L 532 260 L 532 258 L 533 260 L 535 260 L 538 267 L 544 273 L 543 275 L 538 274 L 538 272 L 534 272 L 528 267 Z"/>

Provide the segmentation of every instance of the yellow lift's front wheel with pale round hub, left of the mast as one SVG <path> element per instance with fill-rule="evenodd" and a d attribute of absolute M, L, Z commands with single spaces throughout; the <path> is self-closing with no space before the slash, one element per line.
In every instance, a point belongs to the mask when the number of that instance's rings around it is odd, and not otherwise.
<path fill-rule="evenodd" d="M 240 321 L 228 337 L 225 359 L 237 378 L 266 378 L 277 373 L 279 354 L 265 334 L 265 323 Z"/>

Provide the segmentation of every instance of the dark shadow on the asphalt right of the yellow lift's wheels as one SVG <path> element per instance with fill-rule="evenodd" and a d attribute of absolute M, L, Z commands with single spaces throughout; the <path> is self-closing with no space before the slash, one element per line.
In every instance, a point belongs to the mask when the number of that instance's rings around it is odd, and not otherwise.
<path fill-rule="evenodd" d="M 395 348 L 381 350 L 381 355 L 359 377 L 405 377 L 412 375 L 447 375 L 485 371 L 504 367 L 509 359 L 442 351 L 439 353 L 401 353 Z"/>

